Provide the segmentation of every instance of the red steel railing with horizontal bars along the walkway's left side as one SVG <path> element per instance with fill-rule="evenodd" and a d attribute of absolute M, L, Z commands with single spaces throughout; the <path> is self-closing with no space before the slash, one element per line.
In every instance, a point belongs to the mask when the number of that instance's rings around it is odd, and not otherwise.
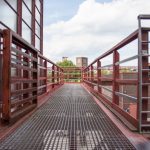
<path fill-rule="evenodd" d="M 1 120 L 10 122 L 36 108 L 39 96 L 62 85 L 63 69 L 9 29 L 1 31 L 1 39 Z"/>

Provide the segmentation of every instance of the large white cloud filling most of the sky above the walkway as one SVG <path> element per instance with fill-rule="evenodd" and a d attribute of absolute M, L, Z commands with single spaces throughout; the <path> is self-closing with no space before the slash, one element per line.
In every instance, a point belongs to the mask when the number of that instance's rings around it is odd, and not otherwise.
<path fill-rule="evenodd" d="M 70 20 L 44 27 L 44 54 L 55 62 L 62 56 L 92 61 L 133 32 L 149 8 L 149 0 L 86 0 Z"/>

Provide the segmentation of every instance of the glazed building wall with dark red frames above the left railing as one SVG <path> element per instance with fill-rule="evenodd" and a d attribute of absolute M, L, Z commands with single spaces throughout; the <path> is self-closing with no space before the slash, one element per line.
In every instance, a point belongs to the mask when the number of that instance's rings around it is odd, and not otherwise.
<path fill-rule="evenodd" d="M 43 0 L 35 0 L 35 3 L 32 0 L 20 0 L 21 5 L 17 2 L 18 0 L 0 0 L 0 29 L 10 28 L 16 33 L 17 31 L 19 34 L 22 33 L 22 38 L 30 44 L 34 44 L 35 40 L 34 46 L 42 52 L 40 43 L 43 40 L 41 35 L 43 27 L 43 20 L 41 19 L 43 16 Z M 19 16 L 20 13 L 17 11 L 21 9 L 22 16 Z M 34 11 L 35 16 L 33 15 Z M 18 17 L 20 18 L 18 19 Z M 21 32 L 20 28 L 22 29 Z"/>

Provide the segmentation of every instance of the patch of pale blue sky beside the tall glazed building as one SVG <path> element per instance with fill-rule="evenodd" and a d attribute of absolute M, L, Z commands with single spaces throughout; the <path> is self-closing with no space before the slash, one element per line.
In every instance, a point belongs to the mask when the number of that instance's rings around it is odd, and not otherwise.
<path fill-rule="evenodd" d="M 74 16 L 79 5 L 85 0 L 44 0 L 44 25 L 60 20 L 68 20 Z M 111 2 L 112 0 L 96 0 L 97 2 Z"/>

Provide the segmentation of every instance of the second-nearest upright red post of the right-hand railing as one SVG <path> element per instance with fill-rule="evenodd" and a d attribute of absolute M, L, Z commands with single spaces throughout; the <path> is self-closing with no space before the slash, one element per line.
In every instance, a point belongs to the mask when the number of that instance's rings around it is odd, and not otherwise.
<path fill-rule="evenodd" d="M 115 94 L 115 92 L 119 91 L 119 84 L 116 82 L 116 79 L 119 79 L 119 65 L 115 65 L 116 62 L 119 61 L 119 53 L 118 51 L 113 52 L 113 95 L 112 102 L 116 105 L 119 105 L 119 97 Z"/>

